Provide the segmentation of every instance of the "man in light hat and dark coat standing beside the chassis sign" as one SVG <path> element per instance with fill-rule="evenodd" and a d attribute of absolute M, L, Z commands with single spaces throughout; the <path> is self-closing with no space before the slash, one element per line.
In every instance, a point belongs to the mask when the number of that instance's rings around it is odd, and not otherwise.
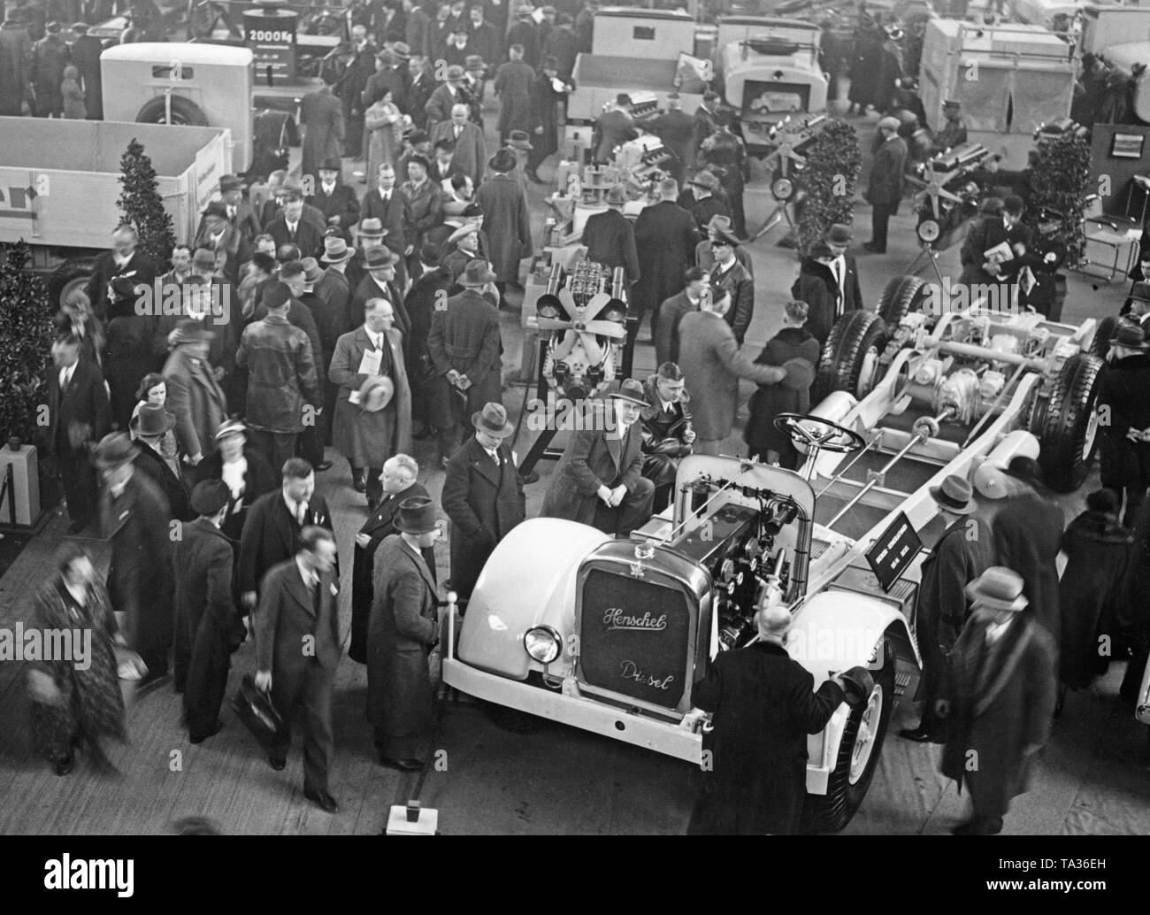
<path fill-rule="evenodd" d="M 915 700 L 925 702 L 918 727 L 906 727 L 899 735 L 923 744 L 942 744 L 945 726 L 943 703 L 948 695 L 951 649 L 967 617 L 966 586 L 994 561 L 994 537 L 986 519 L 979 517 L 977 502 L 969 482 L 953 474 L 930 496 L 946 529 L 922 562 L 922 584 L 915 609 L 922 677 Z"/>

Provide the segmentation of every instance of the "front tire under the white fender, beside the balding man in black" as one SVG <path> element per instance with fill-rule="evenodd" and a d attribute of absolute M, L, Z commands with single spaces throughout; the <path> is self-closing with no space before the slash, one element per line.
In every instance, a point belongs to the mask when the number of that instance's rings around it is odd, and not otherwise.
<path fill-rule="evenodd" d="M 862 805 L 866 791 L 871 786 L 871 779 L 874 777 L 874 770 L 879 765 L 879 756 L 882 754 L 887 729 L 890 726 L 890 714 L 895 706 L 895 666 L 897 661 L 895 645 L 887 639 L 883 643 L 882 670 L 874 678 L 871 699 L 851 709 L 851 717 L 846 722 L 842 742 L 838 745 L 838 758 L 835 760 L 835 768 L 827 779 L 827 793 L 806 795 L 803 805 L 804 832 L 838 832 L 851 822 L 851 817 Z M 877 715 L 877 720 L 875 720 L 875 715 Z M 859 733 L 865 716 L 868 726 L 864 733 L 868 733 L 871 740 L 865 745 L 859 745 Z M 853 772 L 852 780 L 851 764 L 854 761 L 856 747 L 860 753 L 866 752 L 867 755 L 861 769 L 857 768 Z"/>

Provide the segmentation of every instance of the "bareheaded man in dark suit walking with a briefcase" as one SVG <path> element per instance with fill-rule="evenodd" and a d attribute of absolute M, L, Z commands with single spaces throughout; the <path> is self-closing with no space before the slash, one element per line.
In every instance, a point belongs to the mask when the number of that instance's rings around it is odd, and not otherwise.
<path fill-rule="evenodd" d="M 255 686 L 271 694 L 283 717 L 278 746 L 268 764 L 281 771 L 291 749 L 291 719 L 302 706 L 304 796 L 321 810 L 339 809 L 328 792 L 328 770 L 335 753 L 331 735 L 331 695 L 339 664 L 339 565 L 330 529 L 308 525 L 299 534 L 299 549 L 273 566 L 263 579 L 255 616 Z M 301 651 L 300 646 L 309 646 Z"/>

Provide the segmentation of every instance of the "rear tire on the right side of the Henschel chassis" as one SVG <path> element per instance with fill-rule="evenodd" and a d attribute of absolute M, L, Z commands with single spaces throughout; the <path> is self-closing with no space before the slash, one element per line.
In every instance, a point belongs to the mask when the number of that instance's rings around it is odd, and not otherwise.
<path fill-rule="evenodd" d="M 1043 479 L 1058 493 L 1078 489 L 1094 464 L 1098 448 L 1098 389 L 1104 363 L 1079 352 L 1063 365 L 1042 417 L 1038 463 Z"/>

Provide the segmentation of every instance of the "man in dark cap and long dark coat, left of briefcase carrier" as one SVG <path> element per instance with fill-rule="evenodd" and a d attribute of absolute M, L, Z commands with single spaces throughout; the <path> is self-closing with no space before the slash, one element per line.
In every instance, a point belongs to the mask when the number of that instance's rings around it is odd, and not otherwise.
<path fill-rule="evenodd" d="M 243 632 L 232 603 L 235 554 L 221 527 L 231 490 L 223 480 L 202 480 L 192 490 L 195 520 L 183 525 L 172 546 L 176 618 L 176 692 L 184 694 L 187 738 L 201 744 L 223 724 L 231 648 Z"/>

